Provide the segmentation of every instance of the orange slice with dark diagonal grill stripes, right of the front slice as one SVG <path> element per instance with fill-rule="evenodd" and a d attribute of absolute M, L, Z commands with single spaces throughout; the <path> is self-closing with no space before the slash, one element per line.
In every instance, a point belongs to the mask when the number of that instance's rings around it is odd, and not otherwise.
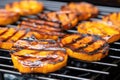
<path fill-rule="evenodd" d="M 108 54 L 109 45 L 99 36 L 69 34 L 60 40 L 70 57 L 84 61 L 98 61 Z"/>

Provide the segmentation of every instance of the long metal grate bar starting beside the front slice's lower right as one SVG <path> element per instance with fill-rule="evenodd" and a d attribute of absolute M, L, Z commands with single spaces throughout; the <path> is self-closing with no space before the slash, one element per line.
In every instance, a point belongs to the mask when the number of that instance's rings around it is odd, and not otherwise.
<path fill-rule="evenodd" d="M 93 72 L 93 73 L 99 73 L 99 74 L 106 74 L 106 75 L 109 74 L 109 72 L 91 70 L 91 69 L 84 69 L 84 68 L 77 68 L 77 67 L 71 67 L 71 66 L 67 66 L 66 68 L 75 69 L 75 70 L 81 70 L 81 71 L 87 71 L 87 72 Z"/>

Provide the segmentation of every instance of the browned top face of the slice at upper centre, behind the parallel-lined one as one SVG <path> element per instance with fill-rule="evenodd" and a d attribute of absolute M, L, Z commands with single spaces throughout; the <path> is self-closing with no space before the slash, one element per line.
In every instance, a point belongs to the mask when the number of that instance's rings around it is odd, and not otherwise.
<path fill-rule="evenodd" d="M 57 12 L 49 12 L 49 13 L 44 13 L 42 14 L 44 17 L 46 17 L 45 20 L 48 20 L 48 21 L 52 21 L 52 22 L 57 22 L 57 23 L 60 23 L 62 26 L 68 26 L 68 27 L 71 27 L 72 25 L 72 20 L 75 19 L 76 16 L 74 16 L 72 19 L 69 20 L 69 16 L 70 15 L 73 15 L 73 13 L 71 11 L 57 11 Z M 54 16 L 51 16 L 51 15 L 54 15 Z M 43 18 L 43 16 L 39 16 L 41 18 Z M 63 17 L 64 16 L 64 17 Z M 64 20 L 66 18 L 66 20 Z M 65 22 L 68 22 L 69 24 L 65 24 Z"/>

